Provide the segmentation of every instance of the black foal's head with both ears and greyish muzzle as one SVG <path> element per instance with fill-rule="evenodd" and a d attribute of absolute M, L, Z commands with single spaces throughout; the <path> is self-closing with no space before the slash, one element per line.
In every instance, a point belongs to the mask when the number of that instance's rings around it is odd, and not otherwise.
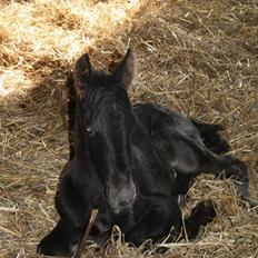
<path fill-rule="evenodd" d="M 115 211 L 129 206 L 136 197 L 130 153 L 136 118 L 127 93 L 133 61 L 129 49 L 111 75 L 95 71 L 88 54 L 81 56 L 75 67 L 80 140 Z"/>

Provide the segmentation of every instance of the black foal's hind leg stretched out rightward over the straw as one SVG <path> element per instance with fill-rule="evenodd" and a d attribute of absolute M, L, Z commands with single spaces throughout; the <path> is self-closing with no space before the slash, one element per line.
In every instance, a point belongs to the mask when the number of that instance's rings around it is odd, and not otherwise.
<path fill-rule="evenodd" d="M 180 139 L 180 136 L 178 138 Z M 247 200 L 251 207 L 257 205 L 251 200 L 247 167 L 242 161 L 230 156 L 218 156 L 187 137 L 182 137 L 180 148 L 175 149 L 176 153 L 171 163 L 179 173 L 206 172 L 217 177 L 224 173 L 226 178 L 234 179 L 237 192 L 244 200 Z"/>

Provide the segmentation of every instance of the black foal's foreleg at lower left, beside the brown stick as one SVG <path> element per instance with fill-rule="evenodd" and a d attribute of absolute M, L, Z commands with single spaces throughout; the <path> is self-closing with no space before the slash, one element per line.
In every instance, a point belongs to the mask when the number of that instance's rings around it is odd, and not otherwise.
<path fill-rule="evenodd" d="M 90 207 L 69 175 L 64 175 L 61 179 L 56 206 L 60 219 L 40 241 L 38 254 L 71 257 L 88 224 Z"/>

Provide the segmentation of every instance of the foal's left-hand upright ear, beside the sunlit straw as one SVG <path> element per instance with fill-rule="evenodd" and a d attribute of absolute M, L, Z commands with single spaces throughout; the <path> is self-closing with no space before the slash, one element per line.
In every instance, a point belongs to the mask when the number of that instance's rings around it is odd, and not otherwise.
<path fill-rule="evenodd" d="M 91 64 L 88 53 L 83 53 L 76 62 L 73 79 L 76 93 L 79 99 L 82 99 L 86 95 L 86 89 L 89 85 L 89 79 L 91 77 Z"/>

